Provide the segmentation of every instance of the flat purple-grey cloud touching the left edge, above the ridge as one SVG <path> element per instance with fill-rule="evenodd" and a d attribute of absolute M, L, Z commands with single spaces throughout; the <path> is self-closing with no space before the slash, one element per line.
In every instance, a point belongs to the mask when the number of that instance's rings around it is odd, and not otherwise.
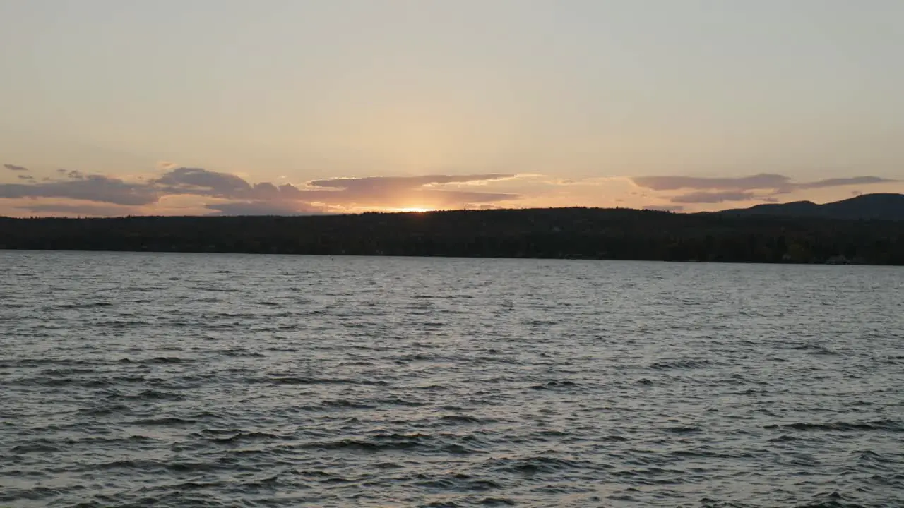
<path fill-rule="evenodd" d="M 0 184 L 0 198 L 69 198 L 90 202 L 143 205 L 157 202 L 159 193 L 142 183 L 127 183 L 99 174 L 69 181 Z"/>

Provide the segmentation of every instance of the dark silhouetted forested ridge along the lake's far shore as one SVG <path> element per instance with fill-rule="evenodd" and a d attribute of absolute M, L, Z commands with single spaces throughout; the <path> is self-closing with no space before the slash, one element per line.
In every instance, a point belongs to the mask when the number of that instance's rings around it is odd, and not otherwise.
<path fill-rule="evenodd" d="M 904 221 L 594 208 L 306 217 L 0 218 L 0 247 L 904 265 Z"/>

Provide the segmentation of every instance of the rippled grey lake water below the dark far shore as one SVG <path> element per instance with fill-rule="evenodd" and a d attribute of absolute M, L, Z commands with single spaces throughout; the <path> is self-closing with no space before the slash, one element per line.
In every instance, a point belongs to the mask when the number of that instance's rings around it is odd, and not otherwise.
<path fill-rule="evenodd" d="M 904 506 L 902 289 L 0 251 L 0 506 Z"/>

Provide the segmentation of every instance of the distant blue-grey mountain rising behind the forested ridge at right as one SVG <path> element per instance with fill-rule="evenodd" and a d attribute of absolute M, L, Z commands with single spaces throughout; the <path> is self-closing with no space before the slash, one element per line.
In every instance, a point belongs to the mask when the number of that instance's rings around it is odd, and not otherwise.
<path fill-rule="evenodd" d="M 843 201 L 816 204 L 798 201 L 758 204 L 750 208 L 717 212 L 735 216 L 815 217 L 842 220 L 904 221 L 904 194 L 862 194 Z"/>

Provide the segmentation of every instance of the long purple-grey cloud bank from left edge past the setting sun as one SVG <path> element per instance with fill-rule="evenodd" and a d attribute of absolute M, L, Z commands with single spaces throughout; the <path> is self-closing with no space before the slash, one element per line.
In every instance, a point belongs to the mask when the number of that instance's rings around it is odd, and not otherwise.
<path fill-rule="evenodd" d="M 9 167 L 9 165 L 7 165 Z M 19 167 L 19 166 L 16 166 Z M 16 170 L 18 171 L 18 170 Z M 122 179 L 79 171 L 58 170 L 59 179 L 42 183 L 0 184 L 0 198 L 65 198 L 91 205 L 26 204 L 31 212 L 85 212 L 123 214 L 110 209 L 144 206 L 168 195 L 195 195 L 224 202 L 205 205 L 221 215 L 291 215 L 325 212 L 331 206 L 423 206 L 452 208 L 517 199 L 517 194 L 447 189 L 447 183 L 487 182 L 513 174 L 431 174 L 424 176 L 371 176 L 315 180 L 306 187 L 263 182 L 251 184 L 234 174 L 196 167 L 174 168 L 158 178 L 130 183 Z M 98 206 L 102 204 L 105 206 Z"/>

